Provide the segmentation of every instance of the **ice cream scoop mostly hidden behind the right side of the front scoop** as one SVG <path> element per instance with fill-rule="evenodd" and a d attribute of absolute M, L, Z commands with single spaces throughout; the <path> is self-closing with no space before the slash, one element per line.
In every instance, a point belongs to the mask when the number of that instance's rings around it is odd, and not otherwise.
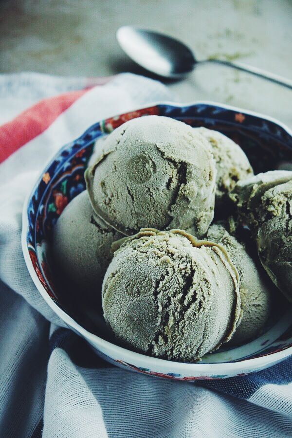
<path fill-rule="evenodd" d="M 242 319 L 229 345 L 241 345 L 260 334 L 272 311 L 272 284 L 265 278 L 265 271 L 248 254 L 246 247 L 231 236 L 223 224 L 210 226 L 207 238 L 223 245 L 237 268 Z"/>

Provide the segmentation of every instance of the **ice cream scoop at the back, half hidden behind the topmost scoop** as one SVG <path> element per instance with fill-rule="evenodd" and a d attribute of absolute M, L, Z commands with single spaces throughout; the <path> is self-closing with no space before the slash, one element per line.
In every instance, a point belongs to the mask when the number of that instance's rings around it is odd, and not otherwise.
<path fill-rule="evenodd" d="M 203 127 L 196 128 L 196 131 L 208 140 L 216 161 L 216 206 L 219 207 L 236 183 L 254 172 L 241 147 L 226 135 Z"/>

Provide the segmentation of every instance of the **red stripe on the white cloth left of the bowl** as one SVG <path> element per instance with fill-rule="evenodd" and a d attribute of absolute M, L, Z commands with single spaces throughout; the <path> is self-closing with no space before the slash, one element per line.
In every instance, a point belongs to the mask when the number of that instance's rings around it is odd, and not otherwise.
<path fill-rule="evenodd" d="M 0 163 L 21 146 L 33 140 L 55 121 L 55 119 L 85 94 L 86 90 L 70 91 L 44 99 L 21 112 L 15 119 L 0 127 Z"/>

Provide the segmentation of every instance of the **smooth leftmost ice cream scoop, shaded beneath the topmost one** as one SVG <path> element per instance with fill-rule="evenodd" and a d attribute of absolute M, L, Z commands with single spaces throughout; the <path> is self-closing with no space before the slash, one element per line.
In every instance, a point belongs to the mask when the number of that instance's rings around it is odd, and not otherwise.
<path fill-rule="evenodd" d="M 111 244 L 121 237 L 94 214 L 85 190 L 67 205 L 55 224 L 55 263 L 80 290 L 96 291 L 110 263 Z"/>

